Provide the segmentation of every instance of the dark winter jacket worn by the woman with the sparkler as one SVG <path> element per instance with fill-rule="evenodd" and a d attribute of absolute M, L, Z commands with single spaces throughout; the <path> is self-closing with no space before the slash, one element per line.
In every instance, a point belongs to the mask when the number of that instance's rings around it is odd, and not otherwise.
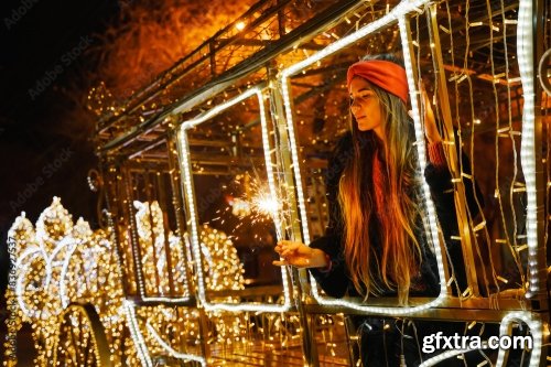
<path fill-rule="evenodd" d="M 341 207 L 338 204 L 338 183 L 342 173 L 349 159 L 353 159 L 353 141 L 352 133 L 345 134 L 337 143 L 332 158 L 328 162 L 326 172 L 326 195 L 329 209 L 329 224 L 326 228 L 325 235 L 321 238 L 314 239 L 311 242 L 312 248 L 317 248 L 327 253 L 331 258 L 332 266 L 329 271 L 322 269 L 310 269 L 321 288 L 329 296 L 342 298 L 344 295 L 356 296 L 358 292 L 354 288 L 348 274 L 348 270 L 344 259 L 343 252 L 343 220 Z M 465 156 L 463 159 L 466 161 Z M 372 165 L 372 158 L 366 159 L 366 164 Z M 464 165 L 468 166 L 468 165 Z M 440 227 L 444 234 L 450 260 L 455 270 L 455 277 L 463 290 L 466 287 L 465 269 L 463 266 L 463 255 L 461 242 L 452 239 L 452 236 L 457 236 L 457 220 L 454 208 L 453 184 L 452 176 L 447 166 L 435 166 L 428 163 L 425 172 L 425 180 L 431 188 L 432 199 L 436 209 Z M 367 180 L 369 183 L 369 180 Z M 477 206 L 473 198 L 472 185 L 465 185 L 467 192 L 467 203 L 472 213 L 477 213 Z M 371 187 L 368 187 L 371 190 Z M 371 216 L 374 218 L 375 216 Z M 440 291 L 440 280 L 437 272 L 437 263 L 433 250 L 428 245 L 422 230 L 422 224 L 417 226 L 421 228 L 418 238 L 420 238 L 422 261 L 420 274 L 412 279 L 412 287 L 410 295 L 412 296 L 436 296 Z M 378 229 L 376 219 L 371 219 L 369 224 L 370 240 L 374 248 L 380 246 L 378 239 Z M 393 295 L 396 293 L 390 290 L 382 295 Z"/>

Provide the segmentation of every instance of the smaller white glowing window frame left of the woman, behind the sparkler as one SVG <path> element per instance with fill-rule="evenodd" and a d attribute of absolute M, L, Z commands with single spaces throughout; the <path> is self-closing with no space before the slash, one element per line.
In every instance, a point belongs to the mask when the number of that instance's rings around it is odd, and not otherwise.
<path fill-rule="evenodd" d="M 196 271 L 197 274 L 197 293 L 198 293 L 198 299 L 199 302 L 204 305 L 206 311 L 229 311 L 229 312 L 244 312 L 244 311 L 252 311 L 252 312 L 284 312 L 291 309 L 291 293 L 290 293 L 290 284 L 289 284 L 289 279 L 285 273 L 285 269 L 281 268 L 281 277 L 282 277 L 282 283 L 283 283 L 283 296 L 284 296 L 284 303 L 281 305 L 272 305 L 272 304 L 267 304 L 267 303 L 240 303 L 240 304 L 233 304 L 233 303 L 210 303 L 207 298 L 206 298 L 206 284 L 205 284 L 205 279 L 203 278 L 203 263 L 202 261 L 198 261 L 198 259 L 202 258 L 201 255 L 201 240 L 199 240 L 199 233 L 198 233 L 198 224 L 197 224 L 197 213 L 195 208 L 195 202 L 194 202 L 194 188 L 193 188 L 193 173 L 192 173 L 192 165 L 190 162 L 190 149 L 188 149 L 188 142 L 187 142 L 187 133 L 186 130 L 192 129 L 196 127 L 197 125 L 205 122 L 206 120 L 215 117 L 216 115 L 220 114 L 222 111 L 230 108 L 231 106 L 249 98 L 252 96 L 257 96 L 258 99 L 258 106 L 260 109 L 260 123 L 261 123 L 261 129 L 262 129 L 262 144 L 264 149 L 264 160 L 266 160 L 266 169 L 267 169 L 267 175 L 268 175 L 268 183 L 270 187 L 270 193 L 273 197 L 277 197 L 276 194 L 276 183 L 273 182 L 273 171 L 272 171 L 272 163 L 271 163 L 271 158 L 270 158 L 270 144 L 269 144 L 269 134 L 268 134 L 268 123 L 266 119 L 266 107 L 264 107 L 264 101 L 263 101 L 263 96 L 262 96 L 262 89 L 257 86 L 247 89 L 247 91 L 242 93 L 241 95 L 229 99 L 225 101 L 222 105 L 218 105 L 210 110 L 208 110 L 206 114 L 202 114 L 197 116 L 196 118 L 185 121 L 182 123 L 180 131 L 179 131 L 179 139 L 177 139 L 177 145 L 179 145 L 179 155 L 180 155 L 180 165 L 181 165 L 181 172 L 182 172 L 182 181 L 184 182 L 184 187 L 185 187 L 185 194 L 186 194 L 186 202 L 188 205 L 188 215 L 190 215 L 190 223 L 191 223 L 191 242 L 192 242 L 192 251 L 194 258 L 197 260 L 197 267 L 199 268 Z M 274 225 L 280 226 L 280 223 L 278 218 L 274 218 Z"/>

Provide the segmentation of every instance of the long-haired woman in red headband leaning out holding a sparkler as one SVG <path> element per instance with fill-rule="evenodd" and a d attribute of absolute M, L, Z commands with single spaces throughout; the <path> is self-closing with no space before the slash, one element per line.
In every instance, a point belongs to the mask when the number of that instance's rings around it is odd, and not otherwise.
<path fill-rule="evenodd" d="M 274 265 L 310 268 L 322 289 L 335 298 L 396 295 L 400 305 L 407 305 L 410 294 L 437 295 L 437 265 L 421 217 L 406 71 L 389 55 L 365 58 L 348 68 L 347 87 L 352 127 L 329 160 L 329 225 L 325 236 L 310 246 L 280 241 L 276 251 L 281 259 Z M 426 181 L 439 216 L 446 216 L 443 223 L 456 223 L 453 193 L 445 193 L 452 187 L 441 137 L 423 97 L 430 159 Z M 456 231 L 443 229 L 446 238 Z M 461 261 L 460 244 L 449 245 L 451 258 Z M 464 285 L 464 272 L 457 273 L 462 267 L 455 268 L 455 277 Z M 419 363 L 414 342 L 404 344 L 400 336 L 408 332 L 403 324 L 380 319 L 363 319 L 361 324 L 369 331 L 361 333 L 365 366 L 399 366 L 404 356 L 410 366 Z"/>

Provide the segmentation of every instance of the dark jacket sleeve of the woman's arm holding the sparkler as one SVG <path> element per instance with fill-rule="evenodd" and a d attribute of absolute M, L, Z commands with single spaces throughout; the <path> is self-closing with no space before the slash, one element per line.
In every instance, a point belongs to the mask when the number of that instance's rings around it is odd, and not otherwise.
<path fill-rule="evenodd" d="M 344 261 L 342 238 L 343 219 L 338 205 L 338 183 L 348 159 L 352 158 L 352 134 L 345 134 L 329 158 L 325 175 L 325 188 L 328 202 L 329 223 L 325 235 L 313 240 L 310 247 L 324 251 L 331 259 L 329 269 L 311 268 L 310 272 L 320 287 L 333 298 L 343 298 L 348 289 L 349 279 Z"/>

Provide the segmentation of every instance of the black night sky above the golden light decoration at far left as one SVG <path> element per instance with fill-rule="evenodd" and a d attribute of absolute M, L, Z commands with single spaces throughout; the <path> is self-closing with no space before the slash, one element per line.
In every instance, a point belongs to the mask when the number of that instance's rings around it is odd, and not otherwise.
<path fill-rule="evenodd" d="M 71 96 L 85 96 L 97 67 L 98 34 L 132 0 L 2 1 L 0 17 L 0 279 L 7 231 L 21 211 L 34 224 L 53 196 L 74 220 L 97 227 L 97 195 L 87 185 L 97 159 L 90 119 L 74 118 Z"/>

